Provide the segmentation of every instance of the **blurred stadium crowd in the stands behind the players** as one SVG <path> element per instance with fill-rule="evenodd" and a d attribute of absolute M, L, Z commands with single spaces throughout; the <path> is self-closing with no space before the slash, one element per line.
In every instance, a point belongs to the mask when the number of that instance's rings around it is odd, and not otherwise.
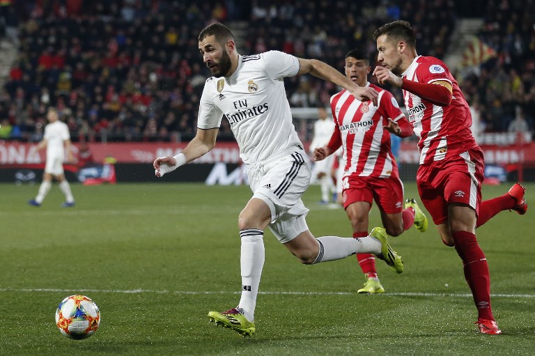
<path fill-rule="evenodd" d="M 18 49 L 0 89 L 0 139 L 39 141 L 54 105 L 74 141 L 178 141 L 196 130 L 208 69 L 197 35 L 210 22 L 235 31 L 241 54 L 278 49 L 343 68 L 353 47 L 375 54 L 371 33 L 403 19 L 419 54 L 444 58 L 460 17 L 483 17 L 481 39 L 497 56 L 462 79 L 488 132 L 535 113 L 535 1 L 20 0 L 4 1 L 1 27 Z M 336 88 L 309 77 L 286 82 L 293 107 L 320 107 Z M 401 91 L 393 91 L 401 100 Z M 519 110 L 520 108 L 520 110 Z M 231 138 L 223 121 L 220 139 Z"/>

